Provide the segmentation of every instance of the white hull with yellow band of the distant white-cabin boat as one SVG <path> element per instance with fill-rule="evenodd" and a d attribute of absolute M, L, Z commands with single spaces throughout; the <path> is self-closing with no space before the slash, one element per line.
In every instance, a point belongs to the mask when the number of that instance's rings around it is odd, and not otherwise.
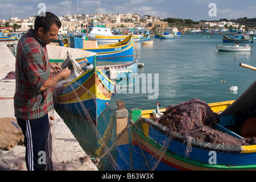
<path fill-rule="evenodd" d="M 131 34 L 130 34 L 131 35 Z M 129 35 L 95 35 L 98 43 L 118 43 L 125 40 Z M 133 35 L 134 42 L 138 42 L 141 35 Z"/>

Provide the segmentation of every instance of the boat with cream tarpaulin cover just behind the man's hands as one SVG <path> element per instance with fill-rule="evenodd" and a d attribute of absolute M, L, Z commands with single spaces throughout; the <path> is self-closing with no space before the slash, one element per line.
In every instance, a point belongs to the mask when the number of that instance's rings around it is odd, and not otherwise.
<path fill-rule="evenodd" d="M 84 67 L 88 63 L 93 63 L 93 58 L 96 55 L 95 52 L 84 51 L 76 48 L 53 46 L 48 44 L 47 52 L 49 57 L 49 63 L 61 64 L 67 57 L 67 51 L 70 55 L 75 57 L 77 63 L 81 67 Z"/>

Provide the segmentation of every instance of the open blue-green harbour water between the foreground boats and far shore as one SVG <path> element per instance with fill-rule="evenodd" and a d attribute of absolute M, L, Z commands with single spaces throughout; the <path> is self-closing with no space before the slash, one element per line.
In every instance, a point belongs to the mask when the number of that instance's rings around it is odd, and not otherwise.
<path fill-rule="evenodd" d="M 127 93 L 119 90 L 110 105 L 124 100 L 130 111 L 156 109 L 156 102 L 163 108 L 192 98 L 207 103 L 236 100 L 255 80 L 256 72 L 239 64 L 255 67 L 256 47 L 250 52 L 216 51 L 216 44 L 234 46 L 234 43 L 222 43 L 222 35 L 183 35 L 171 40 L 152 40 L 153 45 L 134 42 L 134 60 L 144 63 L 139 77 L 147 78 L 139 80 L 139 93 L 135 89 Z M 248 44 L 254 46 L 255 43 Z M 142 89 L 143 85 L 147 90 Z M 229 91 L 232 86 L 238 87 L 237 92 Z"/>

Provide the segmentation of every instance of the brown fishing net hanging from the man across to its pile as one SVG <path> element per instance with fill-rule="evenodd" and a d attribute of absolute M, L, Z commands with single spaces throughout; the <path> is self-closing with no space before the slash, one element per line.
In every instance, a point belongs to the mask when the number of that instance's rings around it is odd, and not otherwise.
<path fill-rule="evenodd" d="M 196 98 L 168 106 L 162 118 L 151 117 L 155 120 L 152 125 L 158 123 L 166 126 L 173 131 L 171 135 L 151 129 L 140 119 L 141 114 L 134 114 L 125 107 L 120 108 L 109 104 L 109 100 L 100 99 L 102 94 L 106 97 L 110 93 L 103 92 L 105 87 L 96 78 L 87 85 L 81 81 L 74 81 L 68 86 L 56 85 L 53 95 L 55 110 L 100 170 L 158 169 L 159 164 L 166 160 L 166 155 L 173 154 L 172 143 L 179 134 L 184 137 L 185 157 L 192 151 L 192 140 L 236 146 L 255 144 L 255 138 L 234 138 L 213 129 L 220 116 L 207 103 Z M 95 83 L 101 92 L 92 89 Z M 119 89 L 123 91 L 123 88 Z M 71 92 L 72 97 L 62 94 L 60 98 L 63 90 Z M 97 112 L 100 115 L 96 116 Z"/>

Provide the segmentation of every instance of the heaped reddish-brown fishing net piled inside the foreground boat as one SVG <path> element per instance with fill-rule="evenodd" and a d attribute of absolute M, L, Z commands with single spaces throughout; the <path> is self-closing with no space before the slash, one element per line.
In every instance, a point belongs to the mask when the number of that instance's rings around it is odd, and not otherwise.
<path fill-rule="evenodd" d="M 256 138 L 238 139 L 214 130 L 213 126 L 219 120 L 220 115 L 214 113 L 206 102 L 193 98 L 176 106 L 168 106 L 166 115 L 156 122 L 189 139 L 236 146 L 256 144 Z"/>

